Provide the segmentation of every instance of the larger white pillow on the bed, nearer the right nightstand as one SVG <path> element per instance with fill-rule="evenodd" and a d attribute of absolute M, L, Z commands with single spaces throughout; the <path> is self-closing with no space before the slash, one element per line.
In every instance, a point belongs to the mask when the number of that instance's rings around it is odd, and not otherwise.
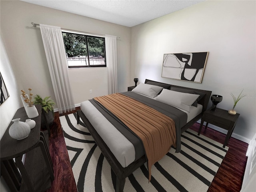
<path fill-rule="evenodd" d="M 200 95 L 163 89 L 156 100 L 190 112 L 191 105 Z"/>

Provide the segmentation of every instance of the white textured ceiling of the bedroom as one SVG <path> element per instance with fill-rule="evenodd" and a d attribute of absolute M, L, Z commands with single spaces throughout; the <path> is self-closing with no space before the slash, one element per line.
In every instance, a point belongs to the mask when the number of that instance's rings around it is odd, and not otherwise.
<path fill-rule="evenodd" d="M 132 27 L 203 0 L 22 0 Z"/>

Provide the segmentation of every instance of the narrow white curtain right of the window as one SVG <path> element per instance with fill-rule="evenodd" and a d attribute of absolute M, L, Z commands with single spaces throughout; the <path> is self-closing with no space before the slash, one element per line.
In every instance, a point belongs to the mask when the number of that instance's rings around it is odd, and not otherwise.
<path fill-rule="evenodd" d="M 116 36 L 105 35 L 106 64 L 108 70 L 108 94 L 117 92 Z"/>

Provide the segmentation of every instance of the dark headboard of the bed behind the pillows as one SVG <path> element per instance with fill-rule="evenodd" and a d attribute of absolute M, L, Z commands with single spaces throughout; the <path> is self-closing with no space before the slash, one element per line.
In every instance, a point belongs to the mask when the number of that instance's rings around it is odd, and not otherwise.
<path fill-rule="evenodd" d="M 207 91 L 207 90 L 200 90 L 200 89 L 194 89 L 194 88 L 189 88 L 189 87 L 182 87 L 182 86 L 176 86 L 176 85 L 171 85 L 171 84 L 166 84 L 166 83 L 161 83 L 157 81 L 152 81 L 152 80 L 145 80 L 146 84 L 152 84 L 152 85 L 157 85 L 164 87 L 165 89 L 171 89 L 171 88 L 182 88 L 182 89 L 187 89 L 187 90 L 194 90 L 194 91 L 199 91 L 205 93 L 205 95 L 198 101 L 198 104 L 201 104 L 203 106 L 202 113 L 206 111 L 208 102 L 210 100 L 210 96 L 212 94 L 212 91 Z"/>

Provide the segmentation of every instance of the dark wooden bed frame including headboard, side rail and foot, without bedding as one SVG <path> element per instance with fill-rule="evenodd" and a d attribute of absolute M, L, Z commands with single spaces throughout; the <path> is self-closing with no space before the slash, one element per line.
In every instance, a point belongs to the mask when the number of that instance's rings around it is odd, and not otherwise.
<path fill-rule="evenodd" d="M 152 80 L 146 79 L 146 82 L 155 82 Z M 158 83 L 158 82 L 155 82 Z M 168 85 L 168 84 L 166 84 Z M 190 122 L 188 122 L 185 126 L 181 128 L 181 133 L 187 130 L 190 126 L 192 126 L 195 122 L 197 122 L 200 118 L 202 118 L 204 111 L 207 109 L 208 102 L 210 99 L 210 96 L 212 94 L 211 91 L 206 91 L 206 90 L 199 90 L 199 89 L 193 89 L 193 88 L 187 88 L 187 87 L 182 87 L 182 86 L 176 86 L 176 85 L 170 85 L 171 87 L 176 87 L 176 88 L 183 88 L 183 89 L 188 89 L 188 90 L 195 90 L 195 91 L 200 91 L 204 92 L 205 96 L 198 101 L 198 104 L 201 104 L 203 106 L 202 113 L 200 113 L 198 116 L 193 118 Z M 116 192 L 122 192 L 124 189 L 124 184 L 125 184 L 125 179 L 128 177 L 132 172 L 134 172 L 136 169 L 138 169 L 140 166 L 142 166 L 146 162 L 146 156 L 142 156 L 135 162 L 131 163 L 127 167 L 122 167 L 121 164 L 118 162 L 114 154 L 110 151 L 106 143 L 102 140 L 100 135 L 96 132 L 92 124 L 89 122 L 89 120 L 86 118 L 84 113 L 81 110 L 78 110 L 77 112 L 77 124 L 80 122 L 80 118 L 83 120 L 84 124 L 88 128 L 90 134 L 94 138 L 96 144 L 100 148 L 102 154 L 110 164 L 112 170 L 116 174 Z"/>

